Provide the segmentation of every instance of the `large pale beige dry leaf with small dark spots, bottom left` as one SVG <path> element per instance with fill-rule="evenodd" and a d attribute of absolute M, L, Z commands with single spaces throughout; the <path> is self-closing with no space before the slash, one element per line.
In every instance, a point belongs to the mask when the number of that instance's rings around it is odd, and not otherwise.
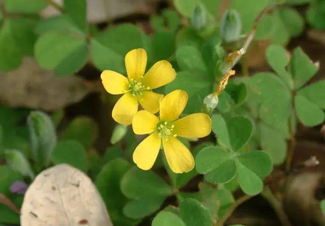
<path fill-rule="evenodd" d="M 25 194 L 20 222 L 22 226 L 113 226 L 91 180 L 66 164 L 36 177 Z"/>

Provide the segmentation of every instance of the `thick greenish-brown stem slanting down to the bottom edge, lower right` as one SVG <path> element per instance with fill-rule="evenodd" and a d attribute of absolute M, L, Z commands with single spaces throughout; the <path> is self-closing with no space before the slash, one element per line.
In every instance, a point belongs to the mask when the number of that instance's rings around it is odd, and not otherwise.
<path fill-rule="evenodd" d="M 281 224 L 283 226 L 291 226 L 287 215 L 283 211 L 282 204 L 275 198 L 271 189 L 268 186 L 264 187 L 264 190 L 262 191 L 261 195 L 270 203 L 275 213 L 277 214 L 279 220 L 281 221 Z"/>

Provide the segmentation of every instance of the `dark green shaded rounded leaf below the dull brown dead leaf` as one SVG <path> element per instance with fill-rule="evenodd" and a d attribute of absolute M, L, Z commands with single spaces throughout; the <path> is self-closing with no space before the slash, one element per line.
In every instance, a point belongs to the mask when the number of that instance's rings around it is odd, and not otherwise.
<path fill-rule="evenodd" d="M 79 116 L 70 122 L 60 140 L 76 140 L 88 148 L 98 138 L 98 130 L 98 125 L 92 118 Z"/>

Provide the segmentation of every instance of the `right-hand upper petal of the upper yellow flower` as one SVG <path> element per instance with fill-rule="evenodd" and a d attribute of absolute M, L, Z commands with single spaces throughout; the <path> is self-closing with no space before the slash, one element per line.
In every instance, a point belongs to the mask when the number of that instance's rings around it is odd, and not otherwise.
<path fill-rule="evenodd" d="M 143 83 L 149 86 L 150 89 L 155 89 L 160 86 L 172 82 L 176 77 L 176 72 L 172 64 L 167 60 L 160 60 L 153 64 L 149 71 L 144 75 Z"/>

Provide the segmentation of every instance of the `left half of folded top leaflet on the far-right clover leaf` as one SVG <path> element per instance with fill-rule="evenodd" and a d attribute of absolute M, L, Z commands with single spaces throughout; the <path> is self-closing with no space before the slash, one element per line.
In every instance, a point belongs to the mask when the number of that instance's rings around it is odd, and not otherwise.
<path fill-rule="evenodd" d="M 273 44 L 267 48 L 266 57 L 271 68 L 283 79 L 290 89 L 293 89 L 293 79 L 286 71 L 286 66 L 289 63 L 286 50 L 280 45 Z"/>

